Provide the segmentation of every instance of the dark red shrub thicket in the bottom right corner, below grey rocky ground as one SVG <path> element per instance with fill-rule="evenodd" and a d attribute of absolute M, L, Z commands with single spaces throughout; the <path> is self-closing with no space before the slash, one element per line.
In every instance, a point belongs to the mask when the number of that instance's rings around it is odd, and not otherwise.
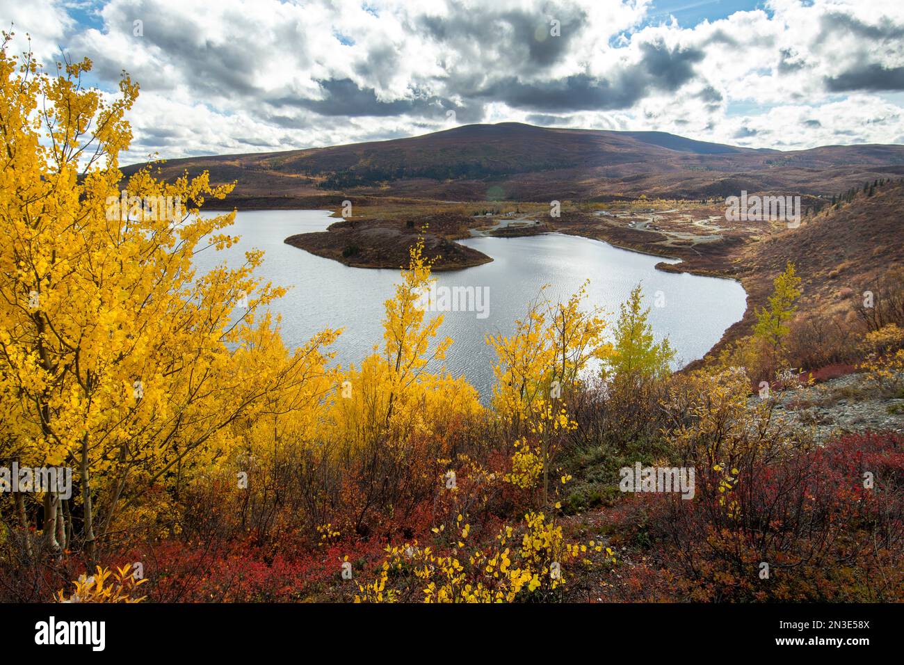
<path fill-rule="evenodd" d="M 848 434 L 769 464 L 751 455 L 738 471 L 720 491 L 725 475 L 698 469 L 693 500 L 626 504 L 621 526 L 680 597 L 904 600 L 904 437 Z"/>

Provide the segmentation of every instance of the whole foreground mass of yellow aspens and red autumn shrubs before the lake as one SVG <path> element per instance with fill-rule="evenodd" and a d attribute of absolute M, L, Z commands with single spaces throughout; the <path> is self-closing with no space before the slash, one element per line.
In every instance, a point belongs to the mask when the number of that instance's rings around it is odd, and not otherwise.
<path fill-rule="evenodd" d="M 653 543 L 639 569 L 663 597 L 899 599 L 899 437 L 815 448 L 749 409 L 743 367 L 671 375 L 639 286 L 611 327 L 586 285 L 541 292 L 486 340 L 481 404 L 419 307 L 422 242 L 363 362 L 335 362 L 341 330 L 289 349 L 262 252 L 193 267 L 236 241 L 234 212 L 201 214 L 232 185 L 124 181 L 137 84 L 108 99 L 89 69 L 0 52 L 0 464 L 73 471 L 71 494 L 0 494 L 3 600 L 596 600 L 629 596 L 619 547 Z M 756 331 L 772 366 L 798 296 L 789 266 Z M 866 338 L 877 381 L 899 376 L 897 335 Z M 569 513 L 594 455 L 602 485 L 635 459 L 693 465 L 699 498 L 626 500 L 593 533 Z"/>

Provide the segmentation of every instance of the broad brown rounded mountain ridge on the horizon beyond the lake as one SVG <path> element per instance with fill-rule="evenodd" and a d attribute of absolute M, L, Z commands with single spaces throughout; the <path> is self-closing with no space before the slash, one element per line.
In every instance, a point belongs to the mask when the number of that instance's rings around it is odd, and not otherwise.
<path fill-rule="evenodd" d="M 142 165 L 124 167 L 131 175 Z M 659 131 L 466 125 L 419 137 L 271 153 L 188 157 L 169 178 L 209 170 L 239 181 L 231 202 L 261 207 L 329 195 L 475 201 L 700 198 L 749 192 L 831 195 L 864 180 L 904 176 L 904 146 L 755 149 Z"/>

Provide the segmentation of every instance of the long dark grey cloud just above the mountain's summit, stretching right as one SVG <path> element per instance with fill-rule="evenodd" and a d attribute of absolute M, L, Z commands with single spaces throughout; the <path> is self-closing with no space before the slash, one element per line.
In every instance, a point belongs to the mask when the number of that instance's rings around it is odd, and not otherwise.
<path fill-rule="evenodd" d="M 589 74 L 523 83 L 506 77 L 476 90 L 473 97 L 504 101 L 509 106 L 541 111 L 626 109 L 652 90 L 673 91 L 694 77 L 698 49 L 670 49 L 662 42 L 640 46 L 641 62 L 622 67 L 610 81 Z"/>

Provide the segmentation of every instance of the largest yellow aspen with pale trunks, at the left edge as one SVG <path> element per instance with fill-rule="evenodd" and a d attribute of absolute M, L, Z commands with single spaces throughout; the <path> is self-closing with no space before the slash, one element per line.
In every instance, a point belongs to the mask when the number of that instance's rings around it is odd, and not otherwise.
<path fill-rule="evenodd" d="M 222 233 L 234 213 L 200 214 L 233 185 L 206 172 L 164 183 L 148 167 L 122 190 L 137 84 L 124 76 L 108 99 L 83 86 L 89 69 L 50 75 L 0 52 L 0 455 L 76 470 L 91 561 L 119 509 L 223 454 L 239 416 L 297 383 L 305 355 L 251 361 L 274 334 L 256 313 L 282 292 L 254 278 L 262 252 L 202 275 L 192 263 L 235 241 Z"/>

